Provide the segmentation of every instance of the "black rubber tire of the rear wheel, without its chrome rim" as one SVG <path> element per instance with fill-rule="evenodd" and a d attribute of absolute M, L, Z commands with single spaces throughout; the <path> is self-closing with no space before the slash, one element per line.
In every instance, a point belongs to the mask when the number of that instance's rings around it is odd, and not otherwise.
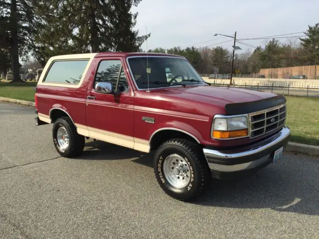
<path fill-rule="evenodd" d="M 65 127 L 69 135 L 69 145 L 66 149 L 61 149 L 57 142 L 57 130 L 61 126 Z M 80 155 L 83 151 L 85 138 L 77 133 L 76 127 L 69 117 L 61 117 L 54 121 L 52 137 L 56 151 L 63 157 L 72 158 Z"/>

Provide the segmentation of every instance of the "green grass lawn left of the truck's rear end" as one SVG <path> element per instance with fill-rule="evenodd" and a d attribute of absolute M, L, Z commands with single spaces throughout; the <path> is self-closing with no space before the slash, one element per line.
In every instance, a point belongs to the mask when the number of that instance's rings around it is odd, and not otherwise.
<path fill-rule="evenodd" d="M 8 83 L 0 81 L 0 97 L 34 101 L 34 87 L 37 82 Z"/>

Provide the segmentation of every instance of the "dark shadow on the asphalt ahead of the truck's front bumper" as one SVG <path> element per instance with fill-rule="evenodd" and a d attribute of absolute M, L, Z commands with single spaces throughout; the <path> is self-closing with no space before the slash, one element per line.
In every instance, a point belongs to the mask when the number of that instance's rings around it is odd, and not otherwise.
<path fill-rule="evenodd" d="M 303 156 L 285 156 L 282 162 L 244 178 L 213 180 L 208 192 L 194 203 L 319 215 L 319 160 L 298 157 Z"/>

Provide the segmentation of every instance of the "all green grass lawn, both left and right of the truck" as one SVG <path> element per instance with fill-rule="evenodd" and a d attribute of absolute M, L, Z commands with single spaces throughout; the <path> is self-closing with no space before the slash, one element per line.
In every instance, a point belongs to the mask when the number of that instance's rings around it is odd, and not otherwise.
<path fill-rule="evenodd" d="M 10 84 L 0 82 L 0 97 L 34 101 L 36 82 Z M 286 124 L 292 131 L 292 142 L 319 145 L 319 99 L 286 96 Z"/>

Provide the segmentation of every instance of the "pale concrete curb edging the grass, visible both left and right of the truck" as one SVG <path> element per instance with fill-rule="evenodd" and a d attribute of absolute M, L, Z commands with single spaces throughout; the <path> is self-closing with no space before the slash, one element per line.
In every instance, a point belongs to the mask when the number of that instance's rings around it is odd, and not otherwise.
<path fill-rule="evenodd" d="M 34 102 L 30 101 L 22 101 L 11 98 L 0 97 L 0 101 L 21 104 L 25 106 L 35 106 Z M 302 153 L 310 156 L 319 156 L 319 146 L 303 144 L 303 143 L 294 143 L 289 142 L 285 148 L 285 151 L 294 152 L 294 153 Z"/>

